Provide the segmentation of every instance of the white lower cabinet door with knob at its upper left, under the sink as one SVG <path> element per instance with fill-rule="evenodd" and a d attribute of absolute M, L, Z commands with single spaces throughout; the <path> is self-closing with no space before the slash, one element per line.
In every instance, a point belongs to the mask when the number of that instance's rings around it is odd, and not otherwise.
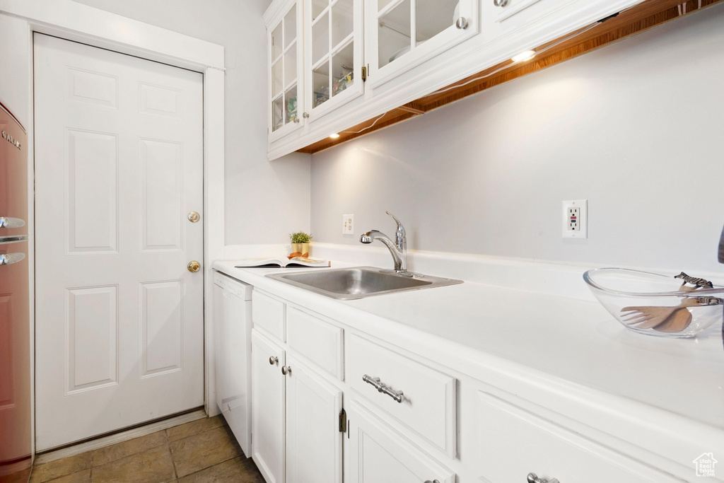
<path fill-rule="evenodd" d="M 287 483 L 341 483 L 342 391 L 289 358 Z"/>

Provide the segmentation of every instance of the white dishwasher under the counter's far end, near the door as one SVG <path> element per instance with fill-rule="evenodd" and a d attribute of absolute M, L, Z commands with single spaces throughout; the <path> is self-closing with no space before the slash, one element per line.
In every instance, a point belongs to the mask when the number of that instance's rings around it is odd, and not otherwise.
<path fill-rule="evenodd" d="M 214 271 L 216 406 L 251 455 L 251 285 Z"/>

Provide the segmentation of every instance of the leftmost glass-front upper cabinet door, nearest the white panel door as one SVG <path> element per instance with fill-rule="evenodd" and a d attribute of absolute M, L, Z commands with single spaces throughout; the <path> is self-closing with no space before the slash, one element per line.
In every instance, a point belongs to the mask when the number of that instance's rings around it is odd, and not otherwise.
<path fill-rule="evenodd" d="M 302 4 L 281 4 L 267 27 L 269 56 L 269 138 L 279 138 L 302 125 Z"/>

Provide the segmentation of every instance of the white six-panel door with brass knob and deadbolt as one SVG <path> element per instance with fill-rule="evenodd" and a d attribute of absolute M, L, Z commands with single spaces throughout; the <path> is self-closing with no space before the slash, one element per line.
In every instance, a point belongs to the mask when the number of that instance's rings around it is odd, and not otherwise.
<path fill-rule="evenodd" d="M 203 78 L 35 35 L 36 448 L 203 405 Z"/>

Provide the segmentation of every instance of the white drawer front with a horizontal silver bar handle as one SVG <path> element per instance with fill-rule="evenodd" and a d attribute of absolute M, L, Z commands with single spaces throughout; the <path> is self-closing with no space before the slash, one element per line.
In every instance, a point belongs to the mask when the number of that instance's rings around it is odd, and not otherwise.
<path fill-rule="evenodd" d="M 374 406 L 392 416 L 451 458 L 455 457 L 455 378 L 430 369 L 356 335 L 348 339 L 347 380 Z M 379 377 L 390 391 L 403 391 L 398 403 L 363 381 Z"/>

